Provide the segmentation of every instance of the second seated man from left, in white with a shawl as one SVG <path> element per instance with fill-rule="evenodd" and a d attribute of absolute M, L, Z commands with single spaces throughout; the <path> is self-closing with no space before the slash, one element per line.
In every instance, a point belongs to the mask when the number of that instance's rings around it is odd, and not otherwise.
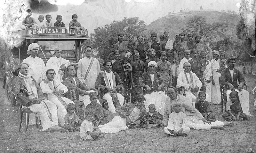
<path fill-rule="evenodd" d="M 73 101 L 68 98 L 62 97 L 64 93 L 68 91 L 68 88 L 60 83 L 56 84 L 54 81 L 55 71 L 54 69 L 48 69 L 46 71 L 47 79 L 41 82 L 40 87 L 42 88 L 43 93 L 48 94 L 48 100 L 54 103 L 57 106 L 57 113 L 60 125 L 64 126 L 64 117 L 67 114 L 67 105 L 69 103 L 75 104 Z"/>

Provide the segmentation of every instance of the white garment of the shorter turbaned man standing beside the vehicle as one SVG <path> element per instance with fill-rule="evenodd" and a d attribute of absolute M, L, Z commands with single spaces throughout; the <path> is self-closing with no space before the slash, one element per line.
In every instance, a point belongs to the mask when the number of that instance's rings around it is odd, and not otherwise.
<path fill-rule="evenodd" d="M 62 77 L 60 76 L 60 73 L 62 72 L 60 70 L 60 66 L 62 64 L 64 64 L 67 68 L 70 62 L 62 57 L 57 58 L 56 56 L 53 56 L 47 61 L 45 65 L 46 69 L 54 69 L 56 73 L 56 76 L 54 77 L 56 85 L 59 85 L 62 82 Z"/>

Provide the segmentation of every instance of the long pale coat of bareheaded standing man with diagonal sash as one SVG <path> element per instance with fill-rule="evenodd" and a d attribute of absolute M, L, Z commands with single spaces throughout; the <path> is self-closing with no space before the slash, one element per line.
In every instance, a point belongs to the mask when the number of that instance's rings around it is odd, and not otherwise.
<path fill-rule="evenodd" d="M 90 72 L 86 78 L 86 80 L 84 80 L 85 77 L 85 73 L 90 65 L 90 60 L 87 57 L 84 57 L 82 59 L 79 60 L 78 62 L 78 69 L 77 69 L 77 77 L 79 78 L 79 80 L 86 84 L 87 88 L 95 88 L 95 82 L 97 79 L 97 76 L 100 74 L 100 63 L 99 61 L 94 58 L 93 63 L 92 63 L 92 67 L 90 69 Z"/>

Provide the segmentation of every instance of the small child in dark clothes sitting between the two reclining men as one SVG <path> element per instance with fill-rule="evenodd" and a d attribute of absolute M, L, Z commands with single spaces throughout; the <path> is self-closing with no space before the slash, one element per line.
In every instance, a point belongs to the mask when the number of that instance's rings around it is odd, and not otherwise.
<path fill-rule="evenodd" d="M 163 120 L 163 116 L 156 112 L 156 106 L 154 104 L 150 104 L 148 106 L 148 112 L 144 117 L 144 125 L 143 128 L 157 128 L 160 127 Z"/>

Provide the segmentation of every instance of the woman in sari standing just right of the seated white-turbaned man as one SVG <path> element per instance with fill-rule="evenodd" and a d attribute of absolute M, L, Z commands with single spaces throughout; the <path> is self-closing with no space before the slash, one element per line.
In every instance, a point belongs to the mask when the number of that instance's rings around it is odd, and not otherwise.
<path fill-rule="evenodd" d="M 171 63 L 166 61 L 166 52 L 160 52 L 161 61 L 157 62 L 156 71 L 159 72 L 163 79 L 164 83 L 166 84 L 167 89 L 169 88 L 170 84 L 172 84 L 172 69 Z"/>

